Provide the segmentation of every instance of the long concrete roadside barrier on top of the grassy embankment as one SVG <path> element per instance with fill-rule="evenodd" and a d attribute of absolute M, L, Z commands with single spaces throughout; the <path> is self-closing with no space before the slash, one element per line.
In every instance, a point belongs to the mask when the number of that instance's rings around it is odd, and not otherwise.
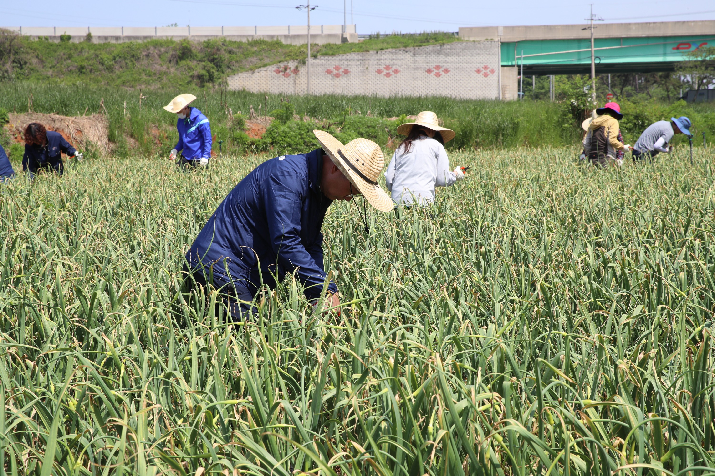
<path fill-rule="evenodd" d="M 147 41 L 151 39 L 190 39 L 204 41 L 212 38 L 225 38 L 234 41 L 257 39 L 280 40 L 285 44 L 305 44 L 307 25 L 288 26 L 0 26 L 1 29 L 16 31 L 33 39 L 46 37 L 50 41 L 59 41 L 60 35 L 67 34 L 70 41 L 79 43 L 92 33 L 94 43 L 122 43 L 123 41 Z M 310 26 L 310 42 L 313 44 L 357 43 L 358 34 L 355 25 Z"/>

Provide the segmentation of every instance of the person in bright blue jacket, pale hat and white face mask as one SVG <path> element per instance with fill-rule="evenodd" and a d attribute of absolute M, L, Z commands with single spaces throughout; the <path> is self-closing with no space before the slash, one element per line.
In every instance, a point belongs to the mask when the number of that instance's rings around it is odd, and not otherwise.
<path fill-rule="evenodd" d="M 164 106 L 166 111 L 179 116 L 179 141 L 169 153 L 169 160 L 173 161 L 177 158 L 177 153 L 181 152 L 181 158 L 177 162 L 179 168 L 206 167 L 211 158 L 211 126 L 201 111 L 189 106 L 194 99 L 196 96 L 193 94 L 179 94 Z"/>

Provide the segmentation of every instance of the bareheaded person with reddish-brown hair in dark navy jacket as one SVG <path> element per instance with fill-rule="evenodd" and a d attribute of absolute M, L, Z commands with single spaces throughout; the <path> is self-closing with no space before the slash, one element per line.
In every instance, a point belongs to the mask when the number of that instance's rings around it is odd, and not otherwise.
<path fill-rule="evenodd" d="M 22 170 L 34 178 L 39 171 L 62 175 L 64 163 L 61 152 L 68 157 L 82 160 L 82 154 L 64 140 L 59 132 L 47 131 L 39 123 L 29 123 L 25 128 L 25 153 L 22 156 Z"/>

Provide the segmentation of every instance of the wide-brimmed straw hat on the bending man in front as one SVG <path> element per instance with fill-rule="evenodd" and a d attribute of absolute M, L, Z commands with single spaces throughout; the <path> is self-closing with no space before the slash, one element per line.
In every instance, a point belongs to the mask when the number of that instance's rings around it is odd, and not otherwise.
<path fill-rule="evenodd" d="M 322 150 L 332 159 L 342 175 L 358 188 L 370 205 L 379 211 L 390 211 L 395 204 L 378 185 L 378 177 L 385 166 L 383 149 L 368 139 L 358 138 L 345 144 L 325 131 L 313 131 Z"/>

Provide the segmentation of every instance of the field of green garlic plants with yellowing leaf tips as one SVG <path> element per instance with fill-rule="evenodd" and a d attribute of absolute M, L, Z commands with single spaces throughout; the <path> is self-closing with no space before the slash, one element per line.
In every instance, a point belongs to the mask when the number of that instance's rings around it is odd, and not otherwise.
<path fill-rule="evenodd" d="M 711 474 L 715 156 L 697 152 L 622 171 L 568 148 L 453 153 L 474 173 L 428 212 L 370 212 L 363 233 L 332 205 L 340 318 L 289 279 L 234 329 L 215 295 L 177 293 L 180 256 L 263 156 L 18 179 L 0 193 L 0 467 Z"/>

